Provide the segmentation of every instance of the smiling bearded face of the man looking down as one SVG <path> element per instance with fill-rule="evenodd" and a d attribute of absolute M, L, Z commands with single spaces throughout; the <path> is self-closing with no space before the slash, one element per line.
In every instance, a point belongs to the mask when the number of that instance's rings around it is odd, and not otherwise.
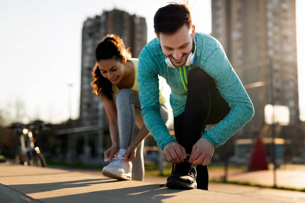
<path fill-rule="evenodd" d="M 172 35 L 156 33 L 161 44 L 162 51 L 175 67 L 186 64 L 187 58 L 192 51 L 193 39 L 195 37 L 195 25 L 191 29 L 187 25 L 182 26 Z"/>

